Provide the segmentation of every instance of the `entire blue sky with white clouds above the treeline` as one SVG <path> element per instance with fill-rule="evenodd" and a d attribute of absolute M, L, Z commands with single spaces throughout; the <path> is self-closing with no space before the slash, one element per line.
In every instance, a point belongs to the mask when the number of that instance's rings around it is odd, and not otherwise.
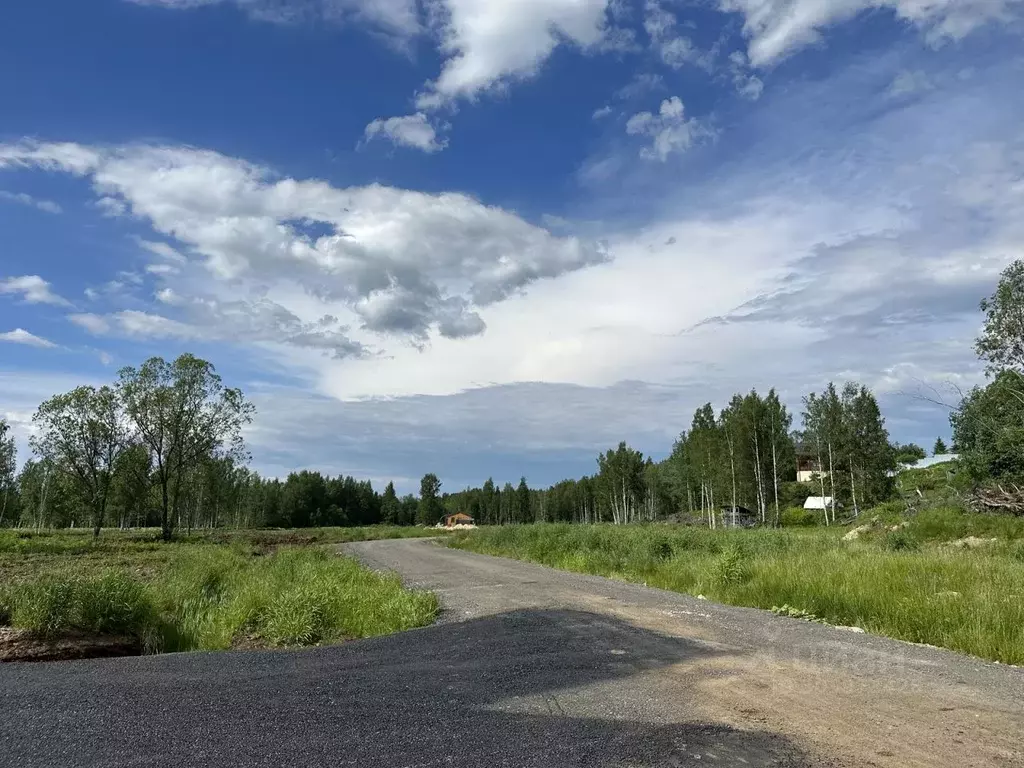
<path fill-rule="evenodd" d="M 930 444 L 1024 252 L 1022 0 L 37 0 L 0 26 L 0 414 L 194 351 L 256 469 L 662 457 L 848 378 Z M 27 450 L 23 450 L 23 459 Z"/>

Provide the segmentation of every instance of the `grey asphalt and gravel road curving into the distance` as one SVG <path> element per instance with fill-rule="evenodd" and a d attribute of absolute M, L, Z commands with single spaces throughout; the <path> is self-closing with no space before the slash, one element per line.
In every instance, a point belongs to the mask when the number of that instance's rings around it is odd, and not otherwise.
<path fill-rule="evenodd" d="M 0 765 L 1024 765 L 1017 669 L 422 540 L 345 549 L 441 621 L 0 666 Z"/>

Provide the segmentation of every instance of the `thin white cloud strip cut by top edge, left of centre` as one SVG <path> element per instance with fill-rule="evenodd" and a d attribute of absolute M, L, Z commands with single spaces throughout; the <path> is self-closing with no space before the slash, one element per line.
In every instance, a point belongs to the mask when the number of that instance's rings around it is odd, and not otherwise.
<path fill-rule="evenodd" d="M 274 24 L 299 22 L 355 22 L 397 38 L 410 38 L 421 31 L 416 0 L 127 0 L 190 10 L 207 5 L 232 4 L 250 17 Z"/>

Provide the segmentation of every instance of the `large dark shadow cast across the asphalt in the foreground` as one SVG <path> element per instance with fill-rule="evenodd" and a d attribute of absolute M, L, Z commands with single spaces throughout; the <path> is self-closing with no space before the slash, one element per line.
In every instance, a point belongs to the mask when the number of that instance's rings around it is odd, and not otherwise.
<path fill-rule="evenodd" d="M 10 666 L 0 764 L 820 765 L 777 735 L 690 722 L 682 683 L 644 682 L 714 653 L 524 610 L 306 651 Z"/>

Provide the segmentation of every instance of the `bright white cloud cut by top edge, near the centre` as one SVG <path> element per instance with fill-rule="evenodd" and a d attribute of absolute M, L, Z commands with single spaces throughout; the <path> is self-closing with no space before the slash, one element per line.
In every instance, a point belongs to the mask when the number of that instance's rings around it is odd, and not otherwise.
<path fill-rule="evenodd" d="M 607 0 L 440 0 L 430 4 L 440 75 L 417 97 L 420 110 L 532 77 L 559 44 L 596 46 L 607 31 Z"/>

